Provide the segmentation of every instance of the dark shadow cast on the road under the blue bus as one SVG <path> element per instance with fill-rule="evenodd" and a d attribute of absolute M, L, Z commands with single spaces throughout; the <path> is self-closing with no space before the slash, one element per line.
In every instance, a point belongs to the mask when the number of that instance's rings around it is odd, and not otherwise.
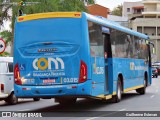
<path fill-rule="evenodd" d="M 123 95 L 122 102 L 125 100 L 132 99 L 134 97 L 140 97 L 141 95 L 137 93 L 126 93 Z M 107 107 L 110 105 L 113 105 L 116 103 L 112 103 L 111 100 L 101 101 L 101 100 L 95 100 L 95 99 L 82 99 L 78 100 L 76 104 L 74 105 L 66 105 L 62 106 L 60 104 L 53 105 L 41 109 L 34 110 L 36 112 L 69 112 L 69 111 L 96 111 L 98 109 L 101 109 L 103 107 Z M 119 103 L 120 104 L 120 103 Z"/>

